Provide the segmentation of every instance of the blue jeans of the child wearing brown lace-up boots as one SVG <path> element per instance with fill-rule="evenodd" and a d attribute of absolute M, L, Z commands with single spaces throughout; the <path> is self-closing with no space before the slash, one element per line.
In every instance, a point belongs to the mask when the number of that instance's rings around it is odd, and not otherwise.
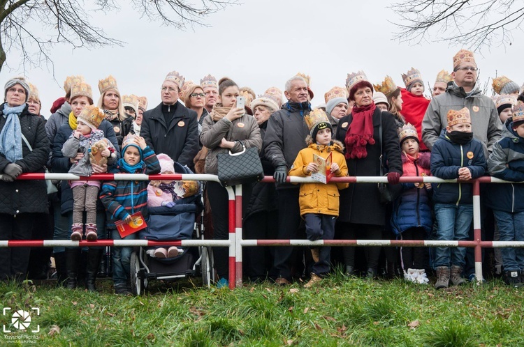
<path fill-rule="evenodd" d="M 438 224 L 437 240 L 467 240 L 473 220 L 473 205 L 435 203 L 435 217 Z M 436 247 L 435 267 L 458 265 L 464 268 L 465 257 L 465 247 Z"/>

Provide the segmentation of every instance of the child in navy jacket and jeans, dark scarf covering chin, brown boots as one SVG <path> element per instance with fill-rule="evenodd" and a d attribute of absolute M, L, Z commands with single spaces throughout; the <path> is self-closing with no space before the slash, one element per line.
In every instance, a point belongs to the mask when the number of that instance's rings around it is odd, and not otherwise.
<path fill-rule="evenodd" d="M 442 130 L 431 152 L 431 174 L 445 180 L 472 180 L 486 172 L 483 145 L 473 139 L 470 111 L 449 110 L 448 125 Z M 473 219 L 473 192 L 469 183 L 433 184 L 433 201 L 437 219 L 437 240 L 467 240 Z M 435 249 L 435 288 L 465 283 L 465 247 Z M 451 265 L 451 268 L 450 268 Z"/>

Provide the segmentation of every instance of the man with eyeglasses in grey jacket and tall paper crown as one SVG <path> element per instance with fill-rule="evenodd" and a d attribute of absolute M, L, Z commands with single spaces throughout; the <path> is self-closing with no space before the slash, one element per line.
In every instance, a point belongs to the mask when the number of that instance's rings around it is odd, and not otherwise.
<path fill-rule="evenodd" d="M 447 126 L 448 111 L 467 107 L 471 114 L 473 137 L 483 143 L 484 154 L 488 157 L 491 146 L 500 138 L 502 124 L 495 103 L 478 88 L 478 76 L 479 68 L 473 52 L 460 49 L 453 56 L 453 81 L 448 82 L 446 93 L 432 98 L 422 121 L 422 141 L 430 150 Z"/>

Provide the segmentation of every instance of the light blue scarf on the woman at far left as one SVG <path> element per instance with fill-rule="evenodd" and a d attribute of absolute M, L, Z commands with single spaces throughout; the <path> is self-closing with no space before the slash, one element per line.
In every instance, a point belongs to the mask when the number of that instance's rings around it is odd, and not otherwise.
<path fill-rule="evenodd" d="M 24 111 L 26 104 L 16 107 L 3 105 L 3 118 L 7 118 L 6 124 L 0 132 L 0 153 L 6 156 L 10 162 L 22 159 L 22 128 L 20 127 L 20 114 Z"/>

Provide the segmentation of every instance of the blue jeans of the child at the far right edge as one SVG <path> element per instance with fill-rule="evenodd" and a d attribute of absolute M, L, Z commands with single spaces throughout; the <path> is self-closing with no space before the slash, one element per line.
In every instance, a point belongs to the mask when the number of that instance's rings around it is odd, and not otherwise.
<path fill-rule="evenodd" d="M 524 241 L 524 212 L 509 213 L 493 210 L 501 241 Z M 524 249 L 501 248 L 504 271 L 524 269 Z"/>

